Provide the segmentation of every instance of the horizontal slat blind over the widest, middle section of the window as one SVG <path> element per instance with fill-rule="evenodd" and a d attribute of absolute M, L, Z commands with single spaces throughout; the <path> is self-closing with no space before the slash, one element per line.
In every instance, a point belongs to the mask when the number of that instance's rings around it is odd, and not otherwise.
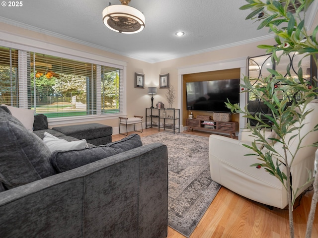
<path fill-rule="evenodd" d="M 31 53 L 30 65 L 36 114 L 49 118 L 96 114 L 95 64 Z"/>

